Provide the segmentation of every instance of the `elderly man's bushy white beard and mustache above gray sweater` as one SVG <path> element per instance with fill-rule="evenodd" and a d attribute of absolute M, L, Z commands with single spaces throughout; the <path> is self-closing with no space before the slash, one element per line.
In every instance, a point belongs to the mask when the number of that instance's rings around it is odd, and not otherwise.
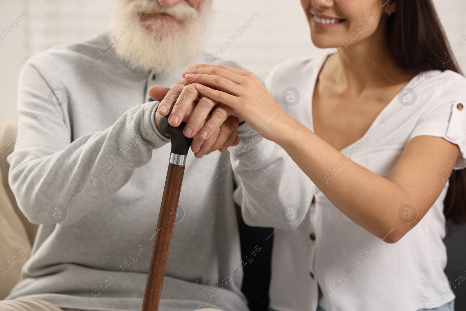
<path fill-rule="evenodd" d="M 205 8 L 200 8 L 199 12 L 186 2 L 162 7 L 154 0 L 114 0 L 109 35 L 117 54 L 132 67 L 170 72 L 191 65 L 201 54 L 209 24 L 205 10 L 210 7 L 211 0 L 206 0 Z M 173 33 L 172 27 L 176 24 L 173 22 L 136 22 L 142 16 L 140 12 L 144 15 L 170 14 L 181 21 L 182 28 Z M 133 20 L 135 17 L 136 21 Z"/>

